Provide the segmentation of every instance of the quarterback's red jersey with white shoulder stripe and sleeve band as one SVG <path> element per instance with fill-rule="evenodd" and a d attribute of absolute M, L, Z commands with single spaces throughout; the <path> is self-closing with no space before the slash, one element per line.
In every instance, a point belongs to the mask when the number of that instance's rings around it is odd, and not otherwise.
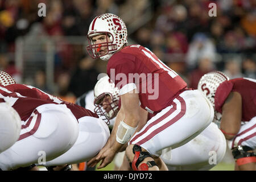
<path fill-rule="evenodd" d="M 141 107 L 151 113 L 170 106 L 177 94 L 187 88 L 176 72 L 140 45 L 127 46 L 115 53 L 107 70 L 120 94 L 137 88 Z"/>

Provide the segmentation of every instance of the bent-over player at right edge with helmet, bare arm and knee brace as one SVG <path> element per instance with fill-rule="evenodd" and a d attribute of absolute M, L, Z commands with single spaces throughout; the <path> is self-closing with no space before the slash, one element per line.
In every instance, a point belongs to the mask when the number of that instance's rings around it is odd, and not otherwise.
<path fill-rule="evenodd" d="M 198 89 L 212 102 L 215 117 L 236 159 L 236 169 L 256 170 L 256 80 L 222 72 L 201 77 Z"/>

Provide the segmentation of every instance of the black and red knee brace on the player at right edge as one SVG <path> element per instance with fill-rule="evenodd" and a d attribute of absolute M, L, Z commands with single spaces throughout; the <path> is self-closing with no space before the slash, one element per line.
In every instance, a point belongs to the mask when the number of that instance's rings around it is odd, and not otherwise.
<path fill-rule="evenodd" d="M 248 146 L 238 146 L 236 148 L 233 148 L 232 154 L 234 156 L 234 159 L 237 159 L 236 163 L 238 166 L 256 162 L 256 155 L 254 154 L 254 152 L 247 152 L 249 150 L 253 150 L 253 148 Z"/>

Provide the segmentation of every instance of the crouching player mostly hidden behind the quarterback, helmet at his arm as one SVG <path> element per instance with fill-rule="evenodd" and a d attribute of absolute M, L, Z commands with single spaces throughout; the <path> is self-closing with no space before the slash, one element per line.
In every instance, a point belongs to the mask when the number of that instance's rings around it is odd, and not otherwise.
<path fill-rule="evenodd" d="M 119 102 L 119 90 L 108 76 L 98 80 L 97 84 L 94 86 L 94 97 L 96 113 L 105 118 L 104 120 L 108 122 L 110 118 L 113 117 L 115 120 L 115 116 L 121 106 Z M 142 114 L 146 114 L 144 115 L 146 120 L 153 116 L 147 112 L 140 114 L 141 117 Z M 113 125 L 113 119 L 109 122 L 110 125 Z M 226 140 L 224 135 L 215 123 L 210 123 L 197 137 L 183 146 L 177 147 L 174 150 L 166 148 L 160 158 L 163 159 L 163 162 L 166 163 L 169 170 L 209 170 L 221 162 L 225 152 Z M 210 156 L 212 156 L 212 160 L 210 160 Z M 129 162 L 124 158 L 123 152 L 118 152 L 117 155 L 115 155 L 114 164 L 114 170 L 120 169 L 123 171 L 131 169 Z"/>

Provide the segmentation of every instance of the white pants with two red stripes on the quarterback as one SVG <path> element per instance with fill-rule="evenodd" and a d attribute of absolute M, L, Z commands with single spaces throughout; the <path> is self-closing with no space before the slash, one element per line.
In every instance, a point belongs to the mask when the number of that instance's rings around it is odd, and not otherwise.
<path fill-rule="evenodd" d="M 152 117 L 129 144 L 145 148 L 160 156 L 167 147 L 177 148 L 199 135 L 213 121 L 212 104 L 199 90 L 186 90 L 172 105 Z"/>

